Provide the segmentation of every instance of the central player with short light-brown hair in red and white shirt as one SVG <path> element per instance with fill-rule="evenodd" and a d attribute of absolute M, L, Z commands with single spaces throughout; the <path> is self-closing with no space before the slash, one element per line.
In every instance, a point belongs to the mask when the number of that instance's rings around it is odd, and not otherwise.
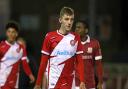
<path fill-rule="evenodd" d="M 84 84 L 84 65 L 82 60 L 82 45 L 80 36 L 71 32 L 74 21 L 74 11 L 63 7 L 60 11 L 57 31 L 47 33 L 42 48 L 42 58 L 34 89 L 41 89 L 42 75 L 48 64 L 48 89 L 75 89 L 75 61 L 78 61 L 80 74 L 80 89 L 86 89 Z"/>

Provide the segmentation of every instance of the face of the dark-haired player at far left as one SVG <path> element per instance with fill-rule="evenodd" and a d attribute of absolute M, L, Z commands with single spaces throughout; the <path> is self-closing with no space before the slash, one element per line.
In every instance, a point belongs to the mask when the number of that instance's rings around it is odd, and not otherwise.
<path fill-rule="evenodd" d="M 6 31 L 6 36 L 8 41 L 14 42 L 18 36 L 18 33 L 15 28 L 8 28 Z"/>

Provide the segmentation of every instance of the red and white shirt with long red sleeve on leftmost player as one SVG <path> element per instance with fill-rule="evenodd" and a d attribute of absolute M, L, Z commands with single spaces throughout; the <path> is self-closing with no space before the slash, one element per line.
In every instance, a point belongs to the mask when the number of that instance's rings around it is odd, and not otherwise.
<path fill-rule="evenodd" d="M 26 74 L 31 74 L 26 59 L 26 50 L 23 46 L 16 42 L 13 45 L 7 41 L 0 43 L 0 89 L 18 88 L 20 61 Z"/>

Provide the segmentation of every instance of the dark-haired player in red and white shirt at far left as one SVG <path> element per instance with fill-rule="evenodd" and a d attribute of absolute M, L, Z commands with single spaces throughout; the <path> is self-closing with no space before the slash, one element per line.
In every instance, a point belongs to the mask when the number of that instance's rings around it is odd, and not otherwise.
<path fill-rule="evenodd" d="M 7 39 L 0 42 L 0 89 L 18 89 L 20 62 L 30 80 L 34 82 L 35 78 L 26 61 L 25 47 L 16 41 L 18 23 L 11 21 L 6 24 L 5 29 Z"/>

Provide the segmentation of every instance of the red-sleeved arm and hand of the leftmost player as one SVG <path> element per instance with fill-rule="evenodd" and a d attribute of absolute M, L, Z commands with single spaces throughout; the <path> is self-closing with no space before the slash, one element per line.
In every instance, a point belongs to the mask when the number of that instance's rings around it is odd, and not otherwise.
<path fill-rule="evenodd" d="M 26 75 L 29 76 L 31 82 L 34 82 L 35 81 L 35 77 L 32 74 L 31 69 L 29 67 L 29 64 L 27 62 L 26 50 L 25 50 L 25 48 L 23 46 L 22 46 L 22 48 L 23 48 L 23 57 L 21 58 L 21 60 L 22 60 L 23 69 L 24 69 Z"/>

